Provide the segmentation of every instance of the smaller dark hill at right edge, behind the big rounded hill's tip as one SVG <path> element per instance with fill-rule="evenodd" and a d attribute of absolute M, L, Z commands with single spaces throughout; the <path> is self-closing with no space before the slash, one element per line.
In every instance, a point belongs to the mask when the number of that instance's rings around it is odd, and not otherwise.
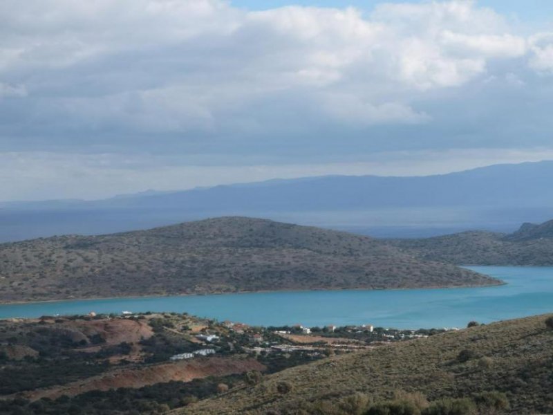
<path fill-rule="evenodd" d="M 451 264 L 553 266 L 553 221 L 525 223 L 512 234 L 473 231 L 391 244 L 421 259 Z"/>

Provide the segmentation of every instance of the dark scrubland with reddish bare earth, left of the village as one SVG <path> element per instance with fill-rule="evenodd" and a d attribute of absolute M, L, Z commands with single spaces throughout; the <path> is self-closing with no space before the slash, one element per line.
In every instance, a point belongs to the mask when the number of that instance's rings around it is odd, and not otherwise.
<path fill-rule="evenodd" d="M 211 342 L 200 338 L 207 333 Z M 245 372 L 311 361 L 247 356 L 243 348 L 259 344 L 251 335 L 186 313 L 0 320 L 0 414 L 161 414 L 221 382 L 242 383 Z M 171 359 L 180 353 L 189 355 Z"/>

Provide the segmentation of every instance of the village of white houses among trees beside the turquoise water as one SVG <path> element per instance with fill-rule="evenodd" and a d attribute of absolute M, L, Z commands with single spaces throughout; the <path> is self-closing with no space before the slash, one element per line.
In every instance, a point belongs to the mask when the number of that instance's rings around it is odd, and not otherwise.
<path fill-rule="evenodd" d="M 335 353 L 373 349 L 391 342 L 426 338 L 447 329 L 399 330 L 375 327 L 372 324 L 324 327 L 250 326 L 242 322 L 217 322 L 186 314 L 184 320 L 167 319 L 164 331 L 180 333 L 189 341 L 188 347 L 169 356 L 169 360 L 187 360 L 211 355 L 247 354 L 265 360 L 269 355 L 290 356 L 314 360 Z M 125 315 L 140 318 L 140 315 Z M 175 317 L 175 316 L 173 316 Z M 154 320 L 155 321 L 155 320 Z M 177 323 L 176 321 L 180 321 Z M 192 346 L 192 347 L 191 347 Z M 184 350 L 186 349 L 186 350 Z"/>

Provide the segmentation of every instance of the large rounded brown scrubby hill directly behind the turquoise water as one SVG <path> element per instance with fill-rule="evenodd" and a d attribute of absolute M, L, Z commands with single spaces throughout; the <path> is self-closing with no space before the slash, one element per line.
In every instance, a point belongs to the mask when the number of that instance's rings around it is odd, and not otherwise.
<path fill-rule="evenodd" d="M 0 245 L 4 302 L 499 283 L 368 237 L 241 217 Z"/>

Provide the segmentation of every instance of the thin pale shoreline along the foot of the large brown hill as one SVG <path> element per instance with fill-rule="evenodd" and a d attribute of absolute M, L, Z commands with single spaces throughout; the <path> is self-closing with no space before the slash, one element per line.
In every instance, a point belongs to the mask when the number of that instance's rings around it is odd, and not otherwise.
<path fill-rule="evenodd" d="M 409 288 L 306 288 L 306 289 L 282 289 L 282 290 L 259 290 L 259 291 L 233 291 L 228 292 L 213 292 L 213 293 L 196 293 L 196 294 L 145 294 L 145 295 L 119 295 L 114 297 L 83 297 L 83 298 L 61 298 L 61 299 L 42 299 L 39 301 L 0 301 L 1 306 L 28 306 L 32 304 L 49 304 L 59 302 L 82 302 L 82 301 L 97 301 L 111 299 L 144 299 L 144 298 L 176 298 L 176 297 L 205 297 L 207 295 L 240 295 L 240 294 L 268 294 L 268 293 L 310 293 L 317 291 L 406 291 L 406 290 L 451 290 L 457 288 L 494 288 L 508 285 L 507 282 L 497 279 L 498 284 L 485 285 L 466 285 L 466 286 L 422 286 Z M 0 317 L 3 320 L 3 317 Z"/>

